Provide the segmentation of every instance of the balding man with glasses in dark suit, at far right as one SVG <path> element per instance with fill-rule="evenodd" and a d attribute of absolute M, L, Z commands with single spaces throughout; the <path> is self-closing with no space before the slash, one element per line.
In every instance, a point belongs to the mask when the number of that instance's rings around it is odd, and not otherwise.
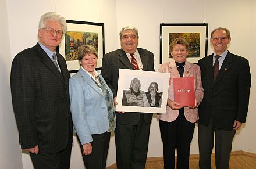
<path fill-rule="evenodd" d="M 227 51 L 231 41 L 227 28 L 216 28 L 211 33 L 214 53 L 200 59 L 204 99 L 199 110 L 199 166 L 211 168 L 214 146 L 216 168 L 228 169 L 232 141 L 246 121 L 251 74 L 248 60 Z"/>

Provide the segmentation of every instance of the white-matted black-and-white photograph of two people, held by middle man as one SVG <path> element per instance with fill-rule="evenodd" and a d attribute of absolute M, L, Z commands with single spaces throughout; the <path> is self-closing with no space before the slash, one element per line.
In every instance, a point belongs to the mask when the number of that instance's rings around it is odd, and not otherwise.
<path fill-rule="evenodd" d="M 116 111 L 165 114 L 169 73 L 119 70 Z"/>

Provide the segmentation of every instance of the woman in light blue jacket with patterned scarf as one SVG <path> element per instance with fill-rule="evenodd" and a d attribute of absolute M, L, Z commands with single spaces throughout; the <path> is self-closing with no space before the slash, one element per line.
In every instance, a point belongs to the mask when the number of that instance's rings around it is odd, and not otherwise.
<path fill-rule="evenodd" d="M 97 59 L 93 46 L 80 46 L 81 67 L 69 80 L 74 132 L 87 169 L 106 167 L 109 140 L 116 127 L 113 94 L 104 78 L 95 71 Z"/>

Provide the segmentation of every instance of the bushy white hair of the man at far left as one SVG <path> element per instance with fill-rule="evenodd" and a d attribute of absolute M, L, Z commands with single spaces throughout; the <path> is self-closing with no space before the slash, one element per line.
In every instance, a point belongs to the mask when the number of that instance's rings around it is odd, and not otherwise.
<path fill-rule="evenodd" d="M 62 33 L 65 34 L 67 31 L 67 23 L 66 23 L 66 19 L 62 16 L 59 16 L 57 13 L 55 12 L 47 12 L 44 15 L 41 16 L 41 19 L 39 21 L 39 25 L 38 25 L 38 29 L 42 29 L 45 28 L 45 23 L 48 19 L 52 19 L 57 21 L 58 23 L 61 24 L 62 26 Z"/>

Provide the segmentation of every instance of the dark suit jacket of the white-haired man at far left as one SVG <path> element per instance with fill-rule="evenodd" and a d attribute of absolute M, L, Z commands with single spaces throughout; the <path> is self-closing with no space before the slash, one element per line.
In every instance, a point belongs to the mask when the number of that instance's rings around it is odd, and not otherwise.
<path fill-rule="evenodd" d="M 10 85 L 23 149 L 39 145 L 40 153 L 59 152 L 72 136 L 70 75 L 65 59 L 57 57 L 62 74 L 38 43 L 13 59 Z"/>

